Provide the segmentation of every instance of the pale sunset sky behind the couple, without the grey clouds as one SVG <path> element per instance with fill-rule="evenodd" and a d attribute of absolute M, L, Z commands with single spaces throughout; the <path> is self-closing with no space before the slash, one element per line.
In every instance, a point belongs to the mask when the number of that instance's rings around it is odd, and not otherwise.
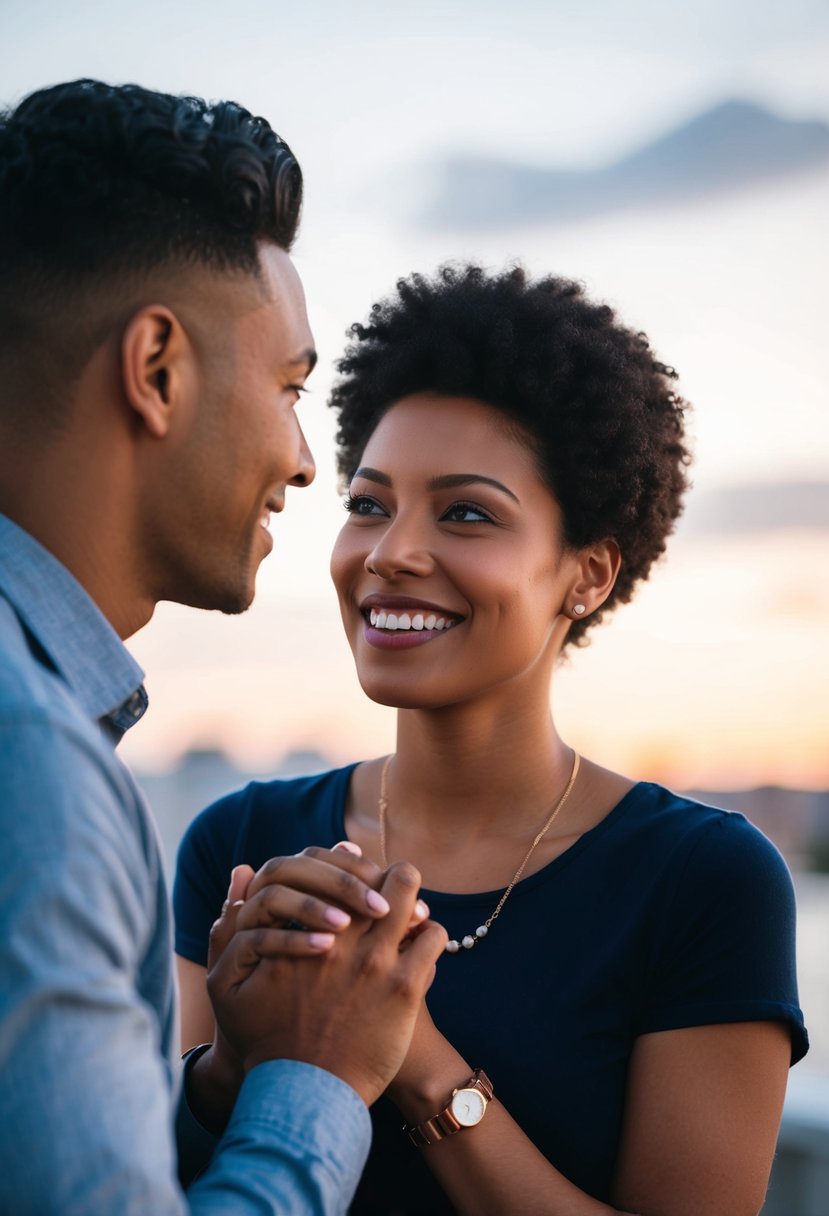
<path fill-rule="evenodd" d="M 327 580 L 343 519 L 332 364 L 400 274 L 519 259 L 582 280 L 647 330 L 694 405 L 687 524 L 638 601 L 559 674 L 565 734 L 679 786 L 829 783 L 829 519 L 751 530 L 705 511 L 723 488 L 762 502 L 769 486 L 813 483 L 827 501 L 829 167 L 559 226 L 417 223 L 455 153 L 602 165 L 734 96 L 829 122 L 824 4 L 0 0 L 4 102 L 79 75 L 235 97 L 288 139 L 306 176 L 295 260 L 321 356 L 300 407 L 317 480 L 275 520 L 256 604 L 238 619 L 162 606 L 130 643 L 152 699 L 130 761 L 159 769 L 221 745 L 265 769 L 299 747 L 334 760 L 390 748 L 393 714 L 356 685 Z"/>

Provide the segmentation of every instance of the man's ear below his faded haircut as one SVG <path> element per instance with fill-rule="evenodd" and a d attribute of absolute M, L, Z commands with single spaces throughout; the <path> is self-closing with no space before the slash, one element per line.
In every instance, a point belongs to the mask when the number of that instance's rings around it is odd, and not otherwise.
<path fill-rule="evenodd" d="M 124 395 L 156 439 L 163 439 L 170 428 L 191 358 L 192 348 L 181 322 L 163 304 L 142 308 L 124 330 L 120 342 Z"/>

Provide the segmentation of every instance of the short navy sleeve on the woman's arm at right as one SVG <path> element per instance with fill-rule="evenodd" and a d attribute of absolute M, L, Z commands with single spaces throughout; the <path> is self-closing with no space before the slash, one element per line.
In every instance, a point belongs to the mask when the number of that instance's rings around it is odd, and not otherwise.
<path fill-rule="evenodd" d="M 667 876 L 638 1034 L 784 1021 L 793 1063 L 808 1049 L 797 1003 L 795 894 L 774 845 L 723 811 Z"/>

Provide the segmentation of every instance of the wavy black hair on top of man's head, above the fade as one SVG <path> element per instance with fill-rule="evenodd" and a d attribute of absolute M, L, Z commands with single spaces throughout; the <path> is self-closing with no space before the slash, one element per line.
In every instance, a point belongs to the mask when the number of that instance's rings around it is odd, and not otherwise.
<path fill-rule="evenodd" d="M 0 266 L 95 275 L 288 249 L 303 178 L 264 118 L 139 85 L 75 80 L 0 112 Z"/>

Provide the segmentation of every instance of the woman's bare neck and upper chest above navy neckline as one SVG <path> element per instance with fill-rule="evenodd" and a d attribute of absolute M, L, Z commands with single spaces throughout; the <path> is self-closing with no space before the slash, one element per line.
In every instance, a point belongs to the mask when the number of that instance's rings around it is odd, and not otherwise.
<path fill-rule="evenodd" d="M 440 891 L 504 886 L 564 793 L 574 751 L 559 737 L 549 693 L 511 705 L 405 709 L 387 772 L 385 838 L 379 835 L 384 759 L 360 765 L 351 778 L 346 828 L 366 856 L 411 861 L 423 884 Z M 596 827 L 632 782 L 581 764 L 566 804 L 534 851 L 529 876 Z"/>

